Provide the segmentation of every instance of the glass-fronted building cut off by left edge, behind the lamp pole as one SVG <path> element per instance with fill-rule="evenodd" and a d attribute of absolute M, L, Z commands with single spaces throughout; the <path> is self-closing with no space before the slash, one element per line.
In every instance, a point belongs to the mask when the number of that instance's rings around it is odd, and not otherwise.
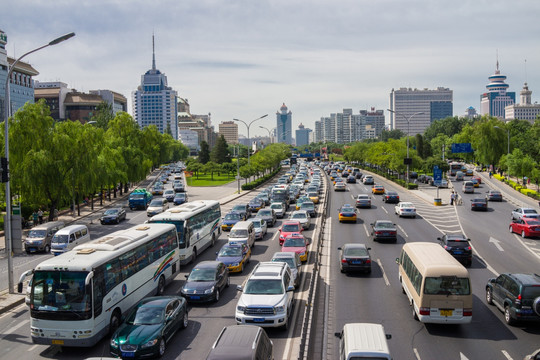
<path fill-rule="evenodd" d="M 7 35 L 0 30 L 0 119 L 4 120 L 6 114 L 6 79 L 8 69 L 13 66 L 15 59 L 7 56 Z M 34 102 L 34 82 L 32 76 L 39 73 L 30 64 L 19 61 L 9 79 L 9 102 L 11 114 L 24 106 L 26 102 Z"/>

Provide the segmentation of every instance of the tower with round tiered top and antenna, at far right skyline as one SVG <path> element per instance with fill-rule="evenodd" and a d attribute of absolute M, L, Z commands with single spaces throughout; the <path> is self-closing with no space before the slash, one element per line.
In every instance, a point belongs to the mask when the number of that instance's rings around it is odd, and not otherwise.
<path fill-rule="evenodd" d="M 494 116 L 502 120 L 505 118 L 504 109 L 516 102 L 516 93 L 506 91 L 509 85 L 504 82 L 506 76 L 501 75 L 499 60 L 497 60 L 495 74 L 488 79 L 487 92 L 480 95 L 480 115 Z"/>

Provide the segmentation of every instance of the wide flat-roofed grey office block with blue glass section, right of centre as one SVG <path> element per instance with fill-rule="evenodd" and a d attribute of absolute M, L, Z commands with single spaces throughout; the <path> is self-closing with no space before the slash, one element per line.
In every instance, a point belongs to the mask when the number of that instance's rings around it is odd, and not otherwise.
<path fill-rule="evenodd" d="M 390 128 L 409 135 L 423 134 L 435 120 L 453 116 L 453 92 L 444 87 L 435 90 L 400 88 L 390 92 Z M 416 114 L 421 112 L 422 114 Z M 411 118 L 410 124 L 407 123 Z"/>

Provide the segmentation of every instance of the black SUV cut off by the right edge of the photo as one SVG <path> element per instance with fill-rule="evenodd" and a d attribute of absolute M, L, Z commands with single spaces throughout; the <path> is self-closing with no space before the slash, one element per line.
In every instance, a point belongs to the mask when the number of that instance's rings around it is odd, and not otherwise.
<path fill-rule="evenodd" d="M 540 275 L 501 274 L 489 279 L 486 301 L 504 312 L 508 325 L 516 321 L 540 322 Z"/>

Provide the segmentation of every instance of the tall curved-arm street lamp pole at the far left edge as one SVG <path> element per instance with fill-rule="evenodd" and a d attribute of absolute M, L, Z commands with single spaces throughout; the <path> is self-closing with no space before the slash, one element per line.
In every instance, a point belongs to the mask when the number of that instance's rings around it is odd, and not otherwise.
<path fill-rule="evenodd" d="M 69 33 L 63 36 L 60 36 L 59 38 L 54 39 L 53 41 L 49 42 L 48 44 L 45 44 L 43 46 L 40 46 L 32 51 L 29 51 L 22 56 L 20 56 L 18 59 L 16 59 L 11 66 L 8 65 L 8 72 L 6 77 L 6 94 L 5 94 L 5 114 L 6 117 L 4 119 L 4 145 L 5 145 L 5 157 L 6 157 L 6 168 L 4 171 L 7 172 L 7 181 L 6 181 L 6 221 L 4 223 L 4 234 L 5 234 L 5 241 L 6 241 L 6 252 L 8 254 L 8 286 L 9 286 L 9 293 L 13 294 L 13 249 L 12 249 L 12 239 L 11 239 L 11 189 L 9 185 L 9 118 L 11 116 L 11 100 L 9 98 L 10 96 L 10 89 L 9 89 L 9 79 L 11 78 L 11 73 L 13 73 L 13 70 L 15 69 L 15 66 L 21 61 L 25 56 L 30 55 L 32 53 L 35 53 L 36 51 L 39 51 L 41 49 L 44 49 L 48 46 L 56 45 L 58 43 L 61 43 L 64 40 L 67 40 L 69 38 L 72 38 L 75 36 L 75 33 Z"/>

